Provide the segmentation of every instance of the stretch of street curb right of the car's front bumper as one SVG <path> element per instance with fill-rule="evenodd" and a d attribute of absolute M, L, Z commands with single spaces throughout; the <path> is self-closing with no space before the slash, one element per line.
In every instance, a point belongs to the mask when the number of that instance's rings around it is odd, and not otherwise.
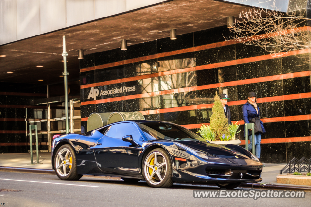
<path fill-rule="evenodd" d="M 311 187 L 304 186 L 285 186 L 285 185 L 275 185 L 275 184 L 258 184 L 258 183 L 243 183 L 239 187 L 244 188 L 256 188 L 256 189 L 275 189 L 275 190 L 305 190 L 311 191 Z"/>

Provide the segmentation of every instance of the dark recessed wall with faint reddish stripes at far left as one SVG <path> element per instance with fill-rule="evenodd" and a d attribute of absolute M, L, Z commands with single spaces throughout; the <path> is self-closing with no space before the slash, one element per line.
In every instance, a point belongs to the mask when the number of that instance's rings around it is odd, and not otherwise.
<path fill-rule="evenodd" d="M 46 97 L 46 92 L 46 86 L 0 82 L 0 153 L 30 150 L 29 121 L 26 120 L 40 118 L 46 113 L 44 107 L 32 106 L 34 100 Z M 38 124 L 39 130 L 46 130 L 46 123 Z M 47 142 L 46 135 L 38 138 L 39 142 Z M 47 146 L 39 149 L 47 149 Z"/>

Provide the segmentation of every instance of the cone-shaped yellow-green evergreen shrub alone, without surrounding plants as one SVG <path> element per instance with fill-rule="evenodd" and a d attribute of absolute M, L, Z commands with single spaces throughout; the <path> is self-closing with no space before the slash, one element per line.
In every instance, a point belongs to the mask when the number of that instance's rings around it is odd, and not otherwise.
<path fill-rule="evenodd" d="M 215 132 L 215 141 L 224 140 L 224 138 L 230 136 L 230 131 L 228 130 L 228 119 L 225 117 L 224 108 L 217 92 L 214 97 L 212 112 L 209 126 Z"/>

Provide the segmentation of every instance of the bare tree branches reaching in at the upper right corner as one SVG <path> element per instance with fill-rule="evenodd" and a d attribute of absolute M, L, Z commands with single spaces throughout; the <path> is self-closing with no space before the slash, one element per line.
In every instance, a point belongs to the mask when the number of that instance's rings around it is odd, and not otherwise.
<path fill-rule="evenodd" d="M 275 1 L 272 8 L 253 8 L 240 13 L 239 20 L 230 29 L 234 35 L 226 40 L 259 46 L 273 57 L 300 49 L 310 50 L 310 31 L 301 27 L 310 20 L 306 18 L 306 10 L 297 7 L 285 14 L 277 11 Z M 309 53 L 299 57 L 310 63 Z"/>

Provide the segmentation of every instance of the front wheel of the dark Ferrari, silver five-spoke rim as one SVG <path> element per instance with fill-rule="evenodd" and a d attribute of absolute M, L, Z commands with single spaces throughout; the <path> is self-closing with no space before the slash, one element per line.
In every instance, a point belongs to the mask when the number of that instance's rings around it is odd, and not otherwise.
<path fill-rule="evenodd" d="M 173 185 L 172 162 L 167 152 L 156 148 L 145 156 L 142 164 L 143 176 L 149 186 L 169 188 Z"/>

